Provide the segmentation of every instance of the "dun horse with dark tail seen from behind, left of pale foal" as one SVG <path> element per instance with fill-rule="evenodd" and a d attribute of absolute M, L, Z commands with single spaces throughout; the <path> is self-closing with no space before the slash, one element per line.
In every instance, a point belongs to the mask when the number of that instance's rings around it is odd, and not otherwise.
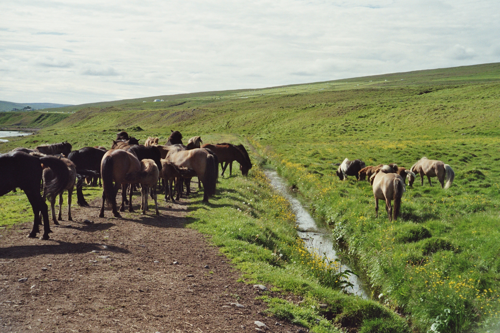
<path fill-rule="evenodd" d="M 134 154 L 122 149 L 111 149 L 104 153 L 100 164 L 100 175 L 102 177 L 102 206 L 99 217 L 104 217 L 104 203 L 111 205 L 114 217 L 121 218 L 116 210 L 116 193 L 121 184 L 129 184 L 125 177 L 129 173 L 140 172 L 140 162 Z M 113 185 L 114 181 L 114 185 Z M 135 182 L 133 182 L 135 183 Z M 121 192 L 121 207 L 124 205 L 126 192 Z M 133 212 L 132 198 L 130 195 L 128 211 Z"/>

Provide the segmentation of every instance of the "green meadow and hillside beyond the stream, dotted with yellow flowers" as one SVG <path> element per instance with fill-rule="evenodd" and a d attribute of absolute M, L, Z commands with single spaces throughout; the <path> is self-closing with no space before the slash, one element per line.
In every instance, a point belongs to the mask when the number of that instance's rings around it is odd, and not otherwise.
<path fill-rule="evenodd" d="M 160 143 L 170 130 L 251 143 L 331 226 L 345 260 L 369 278 L 373 299 L 405 314 L 414 331 L 498 323 L 500 64 L 154 98 L 165 101 L 59 108 L 77 112 L 0 151 L 65 140 L 109 147 L 122 129 Z M 345 157 L 409 168 L 422 156 L 451 165 L 455 181 L 442 190 L 417 178 L 393 223 L 383 209 L 374 218 L 367 182 L 334 176 Z"/>

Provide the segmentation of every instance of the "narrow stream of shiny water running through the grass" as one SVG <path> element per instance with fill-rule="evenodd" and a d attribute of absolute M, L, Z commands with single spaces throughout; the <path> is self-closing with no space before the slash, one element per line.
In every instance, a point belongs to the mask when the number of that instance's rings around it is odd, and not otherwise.
<path fill-rule="evenodd" d="M 338 259 L 336 251 L 333 249 L 333 239 L 331 231 L 327 228 L 318 227 L 316 221 L 310 216 L 307 210 L 304 209 L 300 201 L 298 201 L 288 191 L 288 187 L 284 179 L 279 177 L 276 171 L 264 170 L 265 175 L 271 182 L 271 186 L 281 193 L 291 204 L 291 210 L 295 214 L 297 224 L 297 235 L 304 240 L 305 247 L 309 252 L 317 254 L 326 254 L 328 261 Z M 351 270 L 348 266 L 342 265 L 342 271 Z M 347 288 L 347 292 L 361 296 L 363 299 L 368 299 L 367 293 L 363 290 L 362 281 L 355 275 L 351 274 L 348 281 L 354 287 Z"/>

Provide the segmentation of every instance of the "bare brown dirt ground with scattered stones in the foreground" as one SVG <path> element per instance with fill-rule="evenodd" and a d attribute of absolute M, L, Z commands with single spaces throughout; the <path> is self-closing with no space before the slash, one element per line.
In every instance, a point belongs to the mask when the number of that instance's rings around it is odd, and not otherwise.
<path fill-rule="evenodd" d="M 121 219 L 98 218 L 100 199 L 89 204 L 73 206 L 74 222 L 51 222 L 48 241 L 26 238 L 32 223 L 0 229 L 0 332 L 257 332 L 255 321 L 300 330 L 260 314 L 261 292 L 184 228 L 187 200 L 159 200 L 159 217 L 135 205 Z"/>

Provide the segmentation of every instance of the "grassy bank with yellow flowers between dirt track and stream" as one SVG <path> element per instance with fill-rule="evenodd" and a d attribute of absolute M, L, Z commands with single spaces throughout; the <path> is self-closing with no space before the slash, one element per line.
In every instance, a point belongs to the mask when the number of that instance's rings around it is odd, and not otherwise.
<path fill-rule="evenodd" d="M 409 332 L 405 321 L 379 303 L 348 296 L 338 285 L 337 263 L 311 256 L 294 229 L 286 199 L 276 194 L 258 167 L 248 177 L 219 178 L 209 204 L 196 196 L 189 206 L 190 228 L 211 236 L 249 283 L 274 286 L 280 296 L 264 292 L 268 314 L 310 328 L 311 332 Z M 287 299 L 293 293 L 302 303 Z M 326 304 L 320 308 L 319 304 Z"/>

